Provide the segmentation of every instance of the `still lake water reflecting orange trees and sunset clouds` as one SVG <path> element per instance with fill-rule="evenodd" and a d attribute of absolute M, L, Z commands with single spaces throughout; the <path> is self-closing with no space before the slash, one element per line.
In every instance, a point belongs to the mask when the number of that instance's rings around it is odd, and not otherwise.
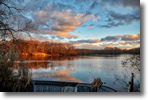
<path fill-rule="evenodd" d="M 130 81 L 132 70 L 121 65 L 130 55 L 99 55 L 76 57 L 23 57 L 28 63 L 33 80 L 68 81 L 92 83 L 100 77 L 105 86 L 117 91 L 127 91 L 124 83 L 116 81 L 115 76 Z M 136 77 L 140 81 L 140 76 Z M 126 87 L 127 88 L 127 87 Z"/>

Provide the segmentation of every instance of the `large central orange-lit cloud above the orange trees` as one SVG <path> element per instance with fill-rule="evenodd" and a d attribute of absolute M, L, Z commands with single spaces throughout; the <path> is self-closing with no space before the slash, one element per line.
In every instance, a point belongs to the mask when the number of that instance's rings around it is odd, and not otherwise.
<path fill-rule="evenodd" d="M 71 10 L 65 11 L 37 11 L 33 14 L 36 22 L 38 24 L 47 27 L 44 30 L 43 26 L 40 27 L 43 33 L 55 34 L 61 37 L 77 37 L 76 35 L 71 35 L 69 32 L 74 31 L 77 27 L 80 27 L 86 21 L 93 19 L 96 21 L 98 17 L 94 14 L 81 14 L 74 13 Z"/>

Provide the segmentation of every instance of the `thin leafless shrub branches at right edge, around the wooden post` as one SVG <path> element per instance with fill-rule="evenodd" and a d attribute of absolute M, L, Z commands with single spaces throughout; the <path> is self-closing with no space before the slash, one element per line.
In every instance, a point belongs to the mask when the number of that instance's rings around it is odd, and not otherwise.
<path fill-rule="evenodd" d="M 121 62 L 122 66 L 126 69 L 130 69 L 132 73 L 134 73 L 134 77 L 140 75 L 140 55 L 132 55 L 129 58 L 125 59 Z M 127 79 L 130 79 L 128 75 L 123 75 L 124 77 L 121 78 L 121 76 L 115 75 L 116 82 L 119 82 L 123 85 L 124 89 L 128 89 L 129 81 Z M 135 80 L 135 78 L 134 78 Z M 134 82 L 134 92 L 140 91 L 140 80 L 135 80 Z"/>

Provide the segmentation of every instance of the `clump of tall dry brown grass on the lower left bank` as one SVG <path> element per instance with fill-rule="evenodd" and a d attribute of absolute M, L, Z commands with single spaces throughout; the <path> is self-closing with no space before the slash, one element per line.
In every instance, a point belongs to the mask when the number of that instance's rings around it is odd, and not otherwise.
<path fill-rule="evenodd" d="M 11 48 L 8 52 L 0 50 L 0 91 L 32 91 L 31 76 L 27 64 L 21 62 L 16 66 L 14 60 L 17 54 Z M 17 73 L 14 73 L 14 68 L 17 68 Z"/>

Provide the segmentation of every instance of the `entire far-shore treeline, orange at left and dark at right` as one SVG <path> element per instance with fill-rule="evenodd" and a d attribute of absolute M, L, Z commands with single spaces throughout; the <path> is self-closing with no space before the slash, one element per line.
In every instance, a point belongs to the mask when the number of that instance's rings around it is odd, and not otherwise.
<path fill-rule="evenodd" d="M 39 41 L 7 41 L 3 44 L 0 41 L 1 47 L 13 47 L 15 51 L 20 51 L 22 54 L 33 55 L 35 53 L 45 53 L 50 56 L 76 56 L 76 55 L 95 55 L 95 54 L 140 54 L 140 47 L 134 49 L 120 49 L 117 47 L 106 47 L 104 49 L 76 49 L 70 43 L 55 43 L 55 42 L 39 42 Z M 6 50 L 6 49 L 5 49 Z"/>

